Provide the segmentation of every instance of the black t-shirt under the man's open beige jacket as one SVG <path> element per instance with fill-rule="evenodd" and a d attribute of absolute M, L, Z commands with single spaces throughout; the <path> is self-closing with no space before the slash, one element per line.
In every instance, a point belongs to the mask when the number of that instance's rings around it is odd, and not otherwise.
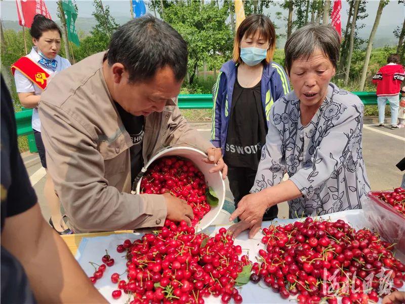
<path fill-rule="evenodd" d="M 145 118 L 143 116 L 133 116 L 121 107 L 117 102 L 115 106 L 118 110 L 121 121 L 123 121 L 124 127 L 130 134 L 132 139 L 132 147 L 130 148 L 131 156 L 131 181 L 141 172 L 143 167 L 142 157 L 142 142 L 145 126 Z"/>

